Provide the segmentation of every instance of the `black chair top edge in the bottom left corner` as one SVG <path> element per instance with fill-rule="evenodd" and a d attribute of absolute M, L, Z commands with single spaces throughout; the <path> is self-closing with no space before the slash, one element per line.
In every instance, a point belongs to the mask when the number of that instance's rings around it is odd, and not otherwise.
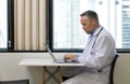
<path fill-rule="evenodd" d="M 0 84 L 29 84 L 29 80 L 2 81 Z"/>

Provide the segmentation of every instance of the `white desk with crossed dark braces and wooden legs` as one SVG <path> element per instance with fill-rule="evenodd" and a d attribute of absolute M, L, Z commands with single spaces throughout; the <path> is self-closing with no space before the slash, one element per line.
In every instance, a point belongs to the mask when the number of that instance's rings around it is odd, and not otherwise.
<path fill-rule="evenodd" d="M 62 83 L 62 72 L 60 67 L 83 67 L 84 64 L 56 64 L 52 59 L 46 58 L 25 58 L 20 61 L 18 66 L 27 67 L 43 67 L 43 78 L 42 83 L 46 84 L 51 78 L 54 79 L 57 83 Z M 47 67 L 57 67 L 52 73 L 47 69 Z M 49 76 L 44 80 L 46 72 Z M 60 80 L 55 78 L 55 73 L 58 72 Z"/>

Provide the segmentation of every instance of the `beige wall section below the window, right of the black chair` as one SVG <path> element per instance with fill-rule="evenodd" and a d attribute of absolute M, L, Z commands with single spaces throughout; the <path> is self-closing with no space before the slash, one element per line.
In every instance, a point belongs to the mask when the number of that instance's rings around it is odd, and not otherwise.
<path fill-rule="evenodd" d="M 114 70 L 114 84 L 130 84 L 130 55 L 120 54 Z"/>

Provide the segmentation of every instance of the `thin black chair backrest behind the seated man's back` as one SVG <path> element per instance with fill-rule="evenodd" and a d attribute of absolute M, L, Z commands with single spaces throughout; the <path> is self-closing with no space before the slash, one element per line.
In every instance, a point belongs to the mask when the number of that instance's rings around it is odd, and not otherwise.
<path fill-rule="evenodd" d="M 109 72 L 109 84 L 114 84 L 114 69 L 115 69 L 116 60 L 118 57 L 119 55 L 116 54 L 114 60 L 112 61 L 112 68 Z"/>

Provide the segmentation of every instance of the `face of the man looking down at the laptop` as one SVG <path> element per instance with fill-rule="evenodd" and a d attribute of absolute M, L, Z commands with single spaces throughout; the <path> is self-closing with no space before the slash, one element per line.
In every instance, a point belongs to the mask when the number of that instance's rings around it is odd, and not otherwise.
<path fill-rule="evenodd" d="M 95 30 L 95 28 L 94 28 L 95 19 L 90 19 L 84 15 L 84 16 L 81 16 L 80 23 L 82 25 L 82 29 L 88 34 L 91 34 Z"/>

